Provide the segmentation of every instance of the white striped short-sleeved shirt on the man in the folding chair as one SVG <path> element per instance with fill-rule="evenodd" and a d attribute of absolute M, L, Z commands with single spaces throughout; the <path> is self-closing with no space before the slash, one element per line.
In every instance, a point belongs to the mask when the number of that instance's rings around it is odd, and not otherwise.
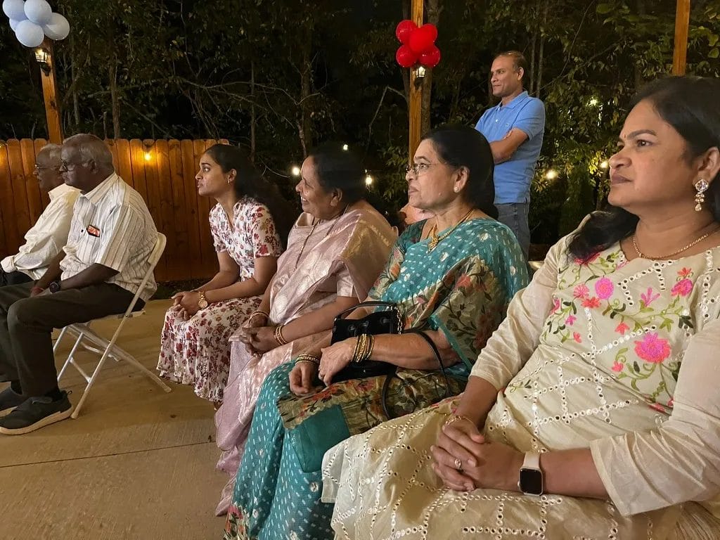
<path fill-rule="evenodd" d="M 158 231 L 143 197 L 113 173 L 75 202 L 66 256 L 60 263 L 63 279 L 79 274 L 93 264 L 102 264 L 117 274 L 108 279 L 133 294 L 149 269 Z M 147 301 L 157 289 L 150 276 L 140 298 Z"/>

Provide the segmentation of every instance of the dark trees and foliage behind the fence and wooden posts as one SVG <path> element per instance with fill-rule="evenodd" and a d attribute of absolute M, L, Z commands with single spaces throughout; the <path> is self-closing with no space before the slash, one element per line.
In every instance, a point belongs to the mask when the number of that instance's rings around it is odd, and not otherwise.
<path fill-rule="evenodd" d="M 405 202 L 407 71 L 394 29 L 408 0 L 60 0 L 71 35 L 56 44 L 66 134 L 228 138 L 292 197 L 292 164 L 319 141 L 356 148 L 392 215 Z M 693 0 L 688 72 L 717 76 L 720 1 Z M 423 125 L 474 124 L 492 104 L 501 50 L 531 63 L 546 104 L 533 186 L 536 243 L 552 243 L 602 203 L 626 104 L 670 72 L 675 0 L 426 0 L 440 65 Z M 37 63 L 0 24 L 0 139 L 46 136 Z M 548 179 L 549 169 L 557 178 Z"/>

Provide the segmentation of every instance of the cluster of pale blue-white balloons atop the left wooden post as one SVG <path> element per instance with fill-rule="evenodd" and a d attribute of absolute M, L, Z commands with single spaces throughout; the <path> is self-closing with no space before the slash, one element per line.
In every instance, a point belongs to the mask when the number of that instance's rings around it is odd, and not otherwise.
<path fill-rule="evenodd" d="M 45 36 L 64 40 L 70 33 L 68 19 L 53 13 L 45 0 L 4 0 L 2 10 L 10 19 L 15 37 L 25 47 L 39 47 Z"/>

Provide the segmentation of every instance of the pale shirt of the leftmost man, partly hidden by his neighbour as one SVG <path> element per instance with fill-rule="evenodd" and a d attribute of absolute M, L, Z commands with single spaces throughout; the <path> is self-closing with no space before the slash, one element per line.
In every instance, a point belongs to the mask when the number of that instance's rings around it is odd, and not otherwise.
<path fill-rule="evenodd" d="M 0 261 L 8 274 L 19 271 L 32 279 L 40 279 L 50 261 L 60 253 L 68 241 L 73 204 L 78 198 L 77 189 L 60 184 L 48 192 L 50 204 L 45 207 L 37 222 L 25 233 L 25 243 L 17 254 Z"/>

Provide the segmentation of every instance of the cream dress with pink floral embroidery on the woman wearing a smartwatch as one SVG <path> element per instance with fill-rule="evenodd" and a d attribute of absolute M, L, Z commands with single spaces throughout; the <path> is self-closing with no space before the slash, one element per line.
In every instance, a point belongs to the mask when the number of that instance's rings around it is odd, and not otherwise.
<path fill-rule="evenodd" d="M 590 448 L 608 500 L 447 489 L 430 447 L 452 399 L 325 454 L 336 538 L 717 537 L 720 248 L 628 261 L 615 244 L 580 260 L 568 241 L 511 302 L 472 375 L 501 389 L 487 438 L 523 452 Z M 688 521 L 705 532 L 679 533 Z"/>

